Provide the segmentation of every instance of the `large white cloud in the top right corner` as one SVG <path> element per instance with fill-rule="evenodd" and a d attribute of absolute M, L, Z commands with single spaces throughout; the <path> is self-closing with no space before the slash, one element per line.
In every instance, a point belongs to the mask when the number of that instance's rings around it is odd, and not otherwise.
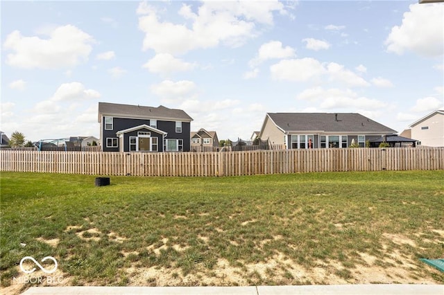
<path fill-rule="evenodd" d="M 402 24 L 391 28 L 386 50 L 401 55 L 409 50 L 420 55 L 438 56 L 444 51 L 444 6 L 441 3 L 412 4 Z"/>

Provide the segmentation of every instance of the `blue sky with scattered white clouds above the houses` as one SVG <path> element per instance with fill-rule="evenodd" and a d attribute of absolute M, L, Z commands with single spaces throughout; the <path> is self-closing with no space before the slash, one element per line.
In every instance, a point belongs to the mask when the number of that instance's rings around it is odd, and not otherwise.
<path fill-rule="evenodd" d="M 1 126 L 99 136 L 98 102 L 184 109 L 250 138 L 267 112 L 398 132 L 444 107 L 444 3 L 2 1 Z"/>

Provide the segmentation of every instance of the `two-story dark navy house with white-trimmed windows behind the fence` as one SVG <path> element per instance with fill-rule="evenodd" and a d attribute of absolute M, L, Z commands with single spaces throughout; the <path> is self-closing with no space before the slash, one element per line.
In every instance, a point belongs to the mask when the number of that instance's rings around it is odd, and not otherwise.
<path fill-rule="evenodd" d="M 99 102 L 104 152 L 189 152 L 190 123 L 182 109 Z"/>

